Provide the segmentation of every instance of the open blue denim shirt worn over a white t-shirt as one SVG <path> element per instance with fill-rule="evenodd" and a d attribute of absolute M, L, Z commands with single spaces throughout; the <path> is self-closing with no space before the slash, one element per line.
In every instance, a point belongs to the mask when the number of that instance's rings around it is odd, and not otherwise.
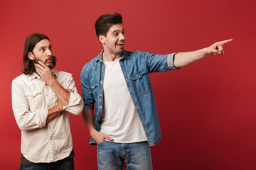
<path fill-rule="evenodd" d="M 80 74 L 84 108 L 92 110 L 95 108 L 94 125 L 98 131 L 100 131 L 100 124 L 102 123 L 105 74 L 102 52 L 85 64 Z M 149 73 L 178 70 L 174 67 L 173 62 L 175 54 L 153 55 L 149 54 L 149 52 L 129 52 L 124 50 L 119 61 L 127 88 L 137 108 L 146 137 L 151 146 L 156 145 L 161 140 L 161 130 Z M 95 145 L 95 141 L 92 138 L 90 139 L 90 145 Z"/>

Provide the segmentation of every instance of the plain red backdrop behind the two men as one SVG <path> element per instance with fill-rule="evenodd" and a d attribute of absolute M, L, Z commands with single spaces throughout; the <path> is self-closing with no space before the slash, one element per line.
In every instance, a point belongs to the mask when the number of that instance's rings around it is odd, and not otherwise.
<path fill-rule="evenodd" d="M 122 13 L 126 50 L 167 54 L 233 38 L 224 56 L 176 72 L 151 74 L 163 139 L 151 147 L 154 169 L 256 169 L 255 1 L 1 1 L 1 169 L 18 169 L 21 132 L 11 109 L 11 81 L 23 45 L 46 34 L 56 69 L 73 74 L 102 50 L 94 23 Z M 75 169 L 97 169 L 82 116 L 70 115 Z"/>

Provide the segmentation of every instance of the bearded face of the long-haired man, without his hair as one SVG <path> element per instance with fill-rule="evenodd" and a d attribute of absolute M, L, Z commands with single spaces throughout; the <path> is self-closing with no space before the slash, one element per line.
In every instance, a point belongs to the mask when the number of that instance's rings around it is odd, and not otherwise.
<path fill-rule="evenodd" d="M 46 64 L 50 69 L 53 69 L 53 51 L 50 41 L 47 39 L 41 40 L 33 48 L 33 52 L 28 53 L 28 58 L 33 60 L 34 63 L 38 61 Z"/>

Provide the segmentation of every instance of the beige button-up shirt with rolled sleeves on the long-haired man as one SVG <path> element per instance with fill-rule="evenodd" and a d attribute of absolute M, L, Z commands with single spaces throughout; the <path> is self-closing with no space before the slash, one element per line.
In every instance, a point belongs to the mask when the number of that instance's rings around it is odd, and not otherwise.
<path fill-rule="evenodd" d="M 68 112 L 79 115 L 83 101 L 72 74 L 54 70 L 55 79 L 64 89 L 73 89 L 63 113 L 46 124 L 48 109 L 58 98 L 35 72 L 22 74 L 12 81 L 12 108 L 21 129 L 21 153 L 31 162 L 55 162 L 68 157 L 73 149 Z"/>

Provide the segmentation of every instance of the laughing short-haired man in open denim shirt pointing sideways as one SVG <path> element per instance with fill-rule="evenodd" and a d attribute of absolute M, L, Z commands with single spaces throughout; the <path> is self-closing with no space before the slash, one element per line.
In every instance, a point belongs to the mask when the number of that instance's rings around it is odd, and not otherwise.
<path fill-rule="evenodd" d="M 124 50 L 119 13 L 100 16 L 95 29 L 104 50 L 85 64 L 80 80 L 82 118 L 92 137 L 90 145 L 97 145 L 98 168 L 122 169 L 125 162 L 127 169 L 152 169 L 149 146 L 161 140 L 161 130 L 149 73 L 223 55 L 223 45 L 231 39 L 193 52 L 152 55 Z"/>

